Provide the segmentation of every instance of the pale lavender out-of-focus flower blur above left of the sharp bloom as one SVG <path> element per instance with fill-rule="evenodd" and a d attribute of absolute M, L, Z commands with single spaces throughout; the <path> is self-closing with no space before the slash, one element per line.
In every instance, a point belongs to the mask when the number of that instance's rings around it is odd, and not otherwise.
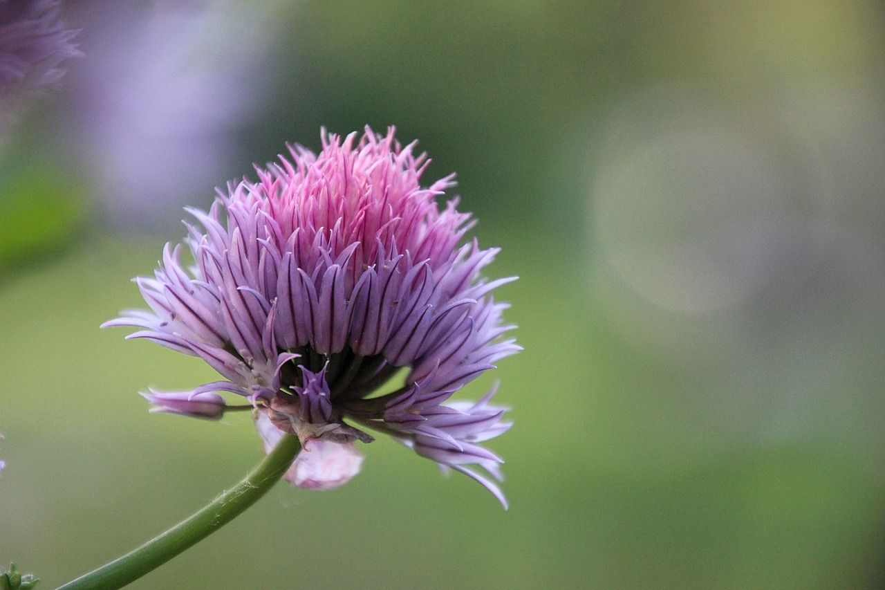
<path fill-rule="evenodd" d="M 261 113 L 273 74 L 276 5 L 77 6 L 89 59 L 72 76 L 66 141 L 84 152 L 113 227 L 169 229 L 242 167 L 238 135 Z"/>

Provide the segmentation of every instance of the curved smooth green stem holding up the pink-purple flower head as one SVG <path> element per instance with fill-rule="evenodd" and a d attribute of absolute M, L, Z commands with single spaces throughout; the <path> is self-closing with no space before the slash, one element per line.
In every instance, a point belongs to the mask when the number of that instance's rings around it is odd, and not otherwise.
<path fill-rule="evenodd" d="M 249 475 L 235 487 L 222 493 L 211 504 L 176 524 L 168 531 L 133 549 L 126 555 L 97 570 L 60 586 L 58 590 L 90 590 L 121 588 L 166 563 L 175 555 L 204 540 L 212 532 L 229 523 L 273 487 L 289 469 L 301 444 L 298 438 L 284 434 Z"/>

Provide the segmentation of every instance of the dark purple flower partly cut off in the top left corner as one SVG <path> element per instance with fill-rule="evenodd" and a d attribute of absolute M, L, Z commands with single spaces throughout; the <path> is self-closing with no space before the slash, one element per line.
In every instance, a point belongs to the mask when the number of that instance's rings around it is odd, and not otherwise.
<path fill-rule="evenodd" d="M 57 82 L 61 63 L 79 55 L 75 35 L 58 20 L 57 0 L 0 0 L 0 97 L 19 82 Z"/>

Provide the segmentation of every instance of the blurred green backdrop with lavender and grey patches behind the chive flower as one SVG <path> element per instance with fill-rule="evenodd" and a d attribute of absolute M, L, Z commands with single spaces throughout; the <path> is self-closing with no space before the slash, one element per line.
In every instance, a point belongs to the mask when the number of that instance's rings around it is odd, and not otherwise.
<path fill-rule="evenodd" d="M 125 4 L 125 6 L 124 6 Z M 389 440 L 132 587 L 885 583 L 885 7 L 68 2 L 85 56 L 0 139 L 0 563 L 46 587 L 258 462 L 121 330 L 181 206 L 319 127 L 458 172 L 525 352 L 504 512 Z"/>

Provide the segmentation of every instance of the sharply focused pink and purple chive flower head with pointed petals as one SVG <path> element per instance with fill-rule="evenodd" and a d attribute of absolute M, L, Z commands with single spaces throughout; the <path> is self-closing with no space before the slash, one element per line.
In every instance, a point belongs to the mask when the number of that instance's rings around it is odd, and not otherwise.
<path fill-rule="evenodd" d="M 324 131 L 322 145 L 292 147 L 291 161 L 256 168 L 258 182 L 228 186 L 208 213 L 190 210 L 202 225 L 188 224 L 194 264 L 166 245 L 155 276 L 136 279 L 150 312 L 104 325 L 141 328 L 128 338 L 201 357 L 227 378 L 192 397 L 151 393 L 164 411 L 204 415 L 171 404 L 235 392 L 254 404 L 266 448 L 282 432 L 298 436 L 295 485 L 326 489 L 356 475 L 354 442 L 371 441 L 369 428 L 473 477 L 506 507 L 492 481 L 502 460 L 481 446 L 511 425 L 489 405 L 494 390 L 475 404 L 446 402 L 519 350 L 501 338 L 512 329 L 507 306 L 490 295 L 513 278 L 482 278 L 497 250 L 458 245 L 470 215 L 457 199 L 436 202 L 453 176 L 422 188 L 429 160 L 392 128 L 343 140 Z M 401 386 L 370 397 L 401 370 Z"/>

